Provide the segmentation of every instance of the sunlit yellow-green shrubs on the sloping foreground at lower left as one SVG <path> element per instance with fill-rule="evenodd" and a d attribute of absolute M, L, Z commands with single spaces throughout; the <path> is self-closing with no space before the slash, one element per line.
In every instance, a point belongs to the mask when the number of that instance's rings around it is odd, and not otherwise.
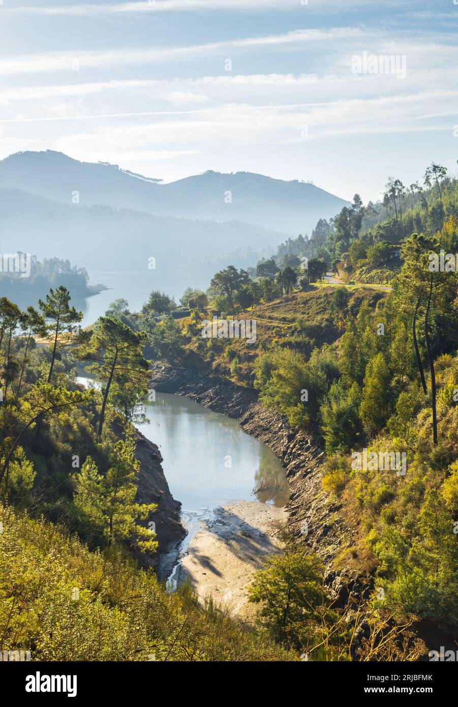
<path fill-rule="evenodd" d="M 3 506 L 0 637 L 31 660 L 295 660 L 189 590 L 168 594 L 117 549 L 90 552 Z"/>

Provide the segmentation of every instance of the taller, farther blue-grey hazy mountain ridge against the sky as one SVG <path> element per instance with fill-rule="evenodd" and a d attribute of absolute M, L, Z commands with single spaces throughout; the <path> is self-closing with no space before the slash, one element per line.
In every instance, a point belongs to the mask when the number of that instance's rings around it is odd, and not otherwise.
<path fill-rule="evenodd" d="M 78 192 L 80 206 L 104 204 L 184 218 L 245 221 L 288 235 L 310 235 L 319 218 L 335 216 L 348 204 L 297 180 L 210 171 L 161 184 L 117 165 L 79 162 L 50 150 L 1 160 L 0 187 L 16 187 L 64 204 L 72 204 Z"/>

